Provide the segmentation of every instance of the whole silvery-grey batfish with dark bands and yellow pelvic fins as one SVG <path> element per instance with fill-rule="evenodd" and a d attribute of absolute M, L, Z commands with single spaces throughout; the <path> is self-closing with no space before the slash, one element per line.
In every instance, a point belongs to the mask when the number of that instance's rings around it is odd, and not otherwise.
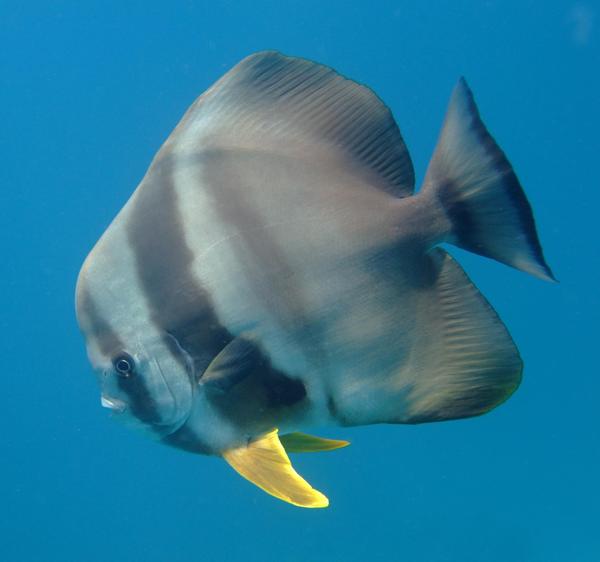
<path fill-rule="evenodd" d="M 252 54 L 191 105 L 84 260 L 76 315 L 101 404 L 326 507 L 289 455 L 348 442 L 311 428 L 479 416 L 519 386 L 513 339 L 447 245 L 555 281 L 463 78 L 416 191 L 372 90 Z"/>

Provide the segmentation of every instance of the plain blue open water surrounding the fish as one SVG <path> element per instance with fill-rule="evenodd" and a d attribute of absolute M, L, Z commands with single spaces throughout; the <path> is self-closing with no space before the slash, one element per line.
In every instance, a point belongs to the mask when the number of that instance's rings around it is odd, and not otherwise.
<path fill-rule="evenodd" d="M 592 1 L 3 0 L 0 560 L 600 560 L 599 31 Z M 523 385 L 477 419 L 329 430 L 352 446 L 295 459 L 327 510 L 109 420 L 74 318 L 81 262 L 160 144 L 265 48 L 371 86 L 418 180 L 466 76 L 561 281 L 452 250 Z"/>

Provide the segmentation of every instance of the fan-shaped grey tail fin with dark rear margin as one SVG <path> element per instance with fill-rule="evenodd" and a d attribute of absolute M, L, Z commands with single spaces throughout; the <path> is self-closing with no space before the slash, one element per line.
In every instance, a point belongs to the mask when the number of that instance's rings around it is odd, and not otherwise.
<path fill-rule="evenodd" d="M 555 280 L 527 197 L 463 78 L 452 94 L 424 189 L 435 192 L 450 219 L 448 242 Z"/>

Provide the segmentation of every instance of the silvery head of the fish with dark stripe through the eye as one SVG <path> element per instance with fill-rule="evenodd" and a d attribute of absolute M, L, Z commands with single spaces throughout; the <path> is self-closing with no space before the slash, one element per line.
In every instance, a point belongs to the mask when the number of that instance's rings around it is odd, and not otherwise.
<path fill-rule="evenodd" d="M 92 252 L 79 274 L 76 310 L 101 405 L 119 421 L 163 438 L 191 413 L 193 374 L 174 352 L 172 336 L 140 318 L 139 299 L 126 283 L 115 289 L 115 268 L 105 275 L 99 267 L 105 260 L 95 257 Z"/>

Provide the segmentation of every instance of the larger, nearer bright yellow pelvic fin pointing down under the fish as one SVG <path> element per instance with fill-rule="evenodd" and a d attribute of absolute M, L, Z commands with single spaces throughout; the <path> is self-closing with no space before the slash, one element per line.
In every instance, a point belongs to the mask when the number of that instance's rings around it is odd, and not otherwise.
<path fill-rule="evenodd" d="M 299 507 L 327 507 L 329 500 L 292 467 L 274 429 L 247 446 L 230 449 L 223 458 L 267 494 Z"/>

